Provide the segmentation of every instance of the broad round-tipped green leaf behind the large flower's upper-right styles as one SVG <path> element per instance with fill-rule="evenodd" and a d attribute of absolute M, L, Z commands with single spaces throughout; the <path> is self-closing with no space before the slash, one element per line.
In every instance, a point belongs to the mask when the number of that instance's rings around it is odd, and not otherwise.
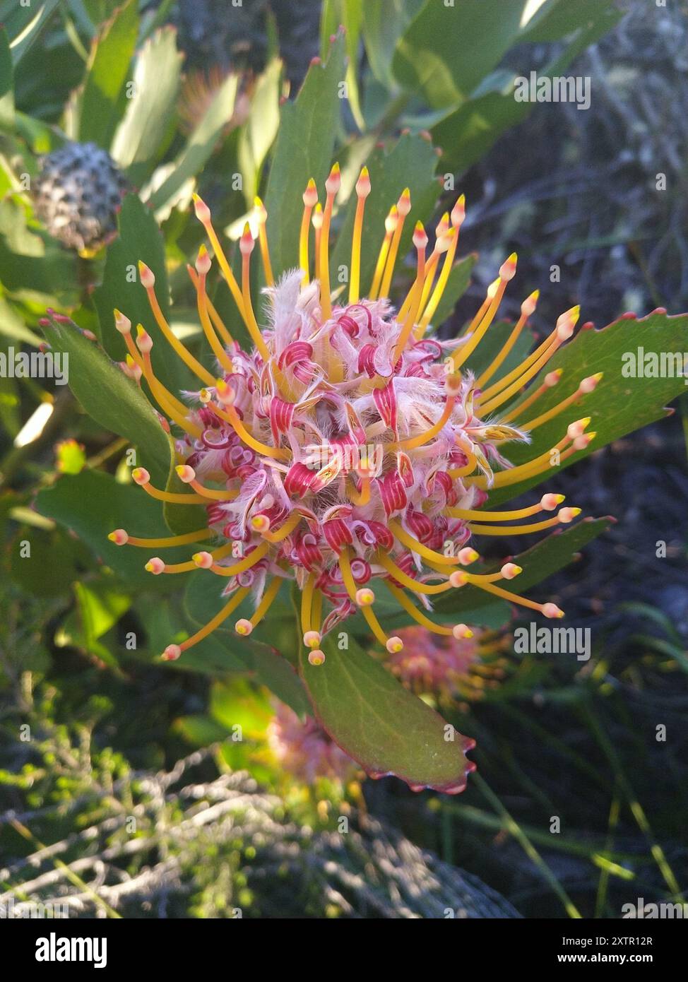
<path fill-rule="evenodd" d="M 365 202 L 361 238 L 363 296 L 373 279 L 378 250 L 385 236 L 385 219 L 404 188 L 409 188 L 411 192 L 411 210 L 403 224 L 399 256 L 403 256 L 411 245 L 416 221 L 427 221 L 440 194 L 440 185 L 435 176 L 437 156 L 431 143 L 421 136 L 408 134 L 400 136 L 389 152 L 381 148 L 374 150 L 367 161 L 367 166 L 371 190 Z M 355 210 L 356 196 L 352 194 L 337 245 L 332 253 L 333 270 L 337 270 L 340 266 L 345 266 L 347 269 L 349 267 Z M 333 283 L 336 282 L 336 278 L 333 277 Z"/>

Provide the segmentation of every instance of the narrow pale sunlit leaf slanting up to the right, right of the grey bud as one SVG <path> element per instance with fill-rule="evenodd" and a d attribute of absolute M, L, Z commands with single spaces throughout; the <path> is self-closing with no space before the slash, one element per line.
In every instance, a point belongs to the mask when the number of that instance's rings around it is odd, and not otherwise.
<path fill-rule="evenodd" d="M 164 211 L 203 167 L 215 149 L 227 124 L 234 115 L 237 102 L 238 75 L 230 75 L 218 89 L 213 101 L 195 128 L 184 150 L 171 169 L 170 176 L 153 191 L 148 199 L 157 213 Z"/>

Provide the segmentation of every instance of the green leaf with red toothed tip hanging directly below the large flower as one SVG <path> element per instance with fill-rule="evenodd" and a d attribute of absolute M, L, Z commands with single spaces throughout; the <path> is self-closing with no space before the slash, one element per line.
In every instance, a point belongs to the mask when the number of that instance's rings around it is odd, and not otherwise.
<path fill-rule="evenodd" d="M 457 733 L 407 691 L 379 661 L 349 637 L 340 651 L 336 635 L 323 643 L 323 665 L 299 657 L 316 718 L 370 777 L 396 775 L 414 791 L 463 791 L 474 765 L 465 754 L 474 741 Z"/>

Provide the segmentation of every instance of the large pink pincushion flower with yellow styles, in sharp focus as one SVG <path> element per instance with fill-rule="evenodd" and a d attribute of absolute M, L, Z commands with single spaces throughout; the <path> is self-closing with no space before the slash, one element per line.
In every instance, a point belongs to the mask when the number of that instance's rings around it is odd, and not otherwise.
<path fill-rule="evenodd" d="M 300 627 L 311 665 L 325 659 L 323 637 L 356 611 L 389 653 L 402 649 L 401 636 L 389 636 L 375 613 L 375 588 L 381 580 L 414 622 L 445 637 L 460 639 L 468 628 L 437 624 L 433 600 L 467 583 L 547 618 L 563 616 L 554 603 L 539 604 L 505 588 L 504 582 L 521 572 L 513 563 L 489 574 L 471 573 L 469 568 L 479 558 L 473 548 L 477 537 L 541 531 L 579 513 L 559 508 L 563 496 L 556 494 L 512 511 L 485 508 L 491 488 L 544 474 L 551 466 L 549 452 L 511 466 L 510 443 L 529 442 L 529 433 L 555 416 L 561 419 L 559 462 L 594 438 L 586 431 L 589 418 L 580 418 L 574 405 L 595 388 L 600 374 L 583 378 L 569 398 L 539 413 L 538 399 L 558 381 L 559 373 L 551 372 L 527 390 L 517 409 L 504 411 L 571 337 L 578 308 L 563 313 L 531 355 L 492 381 L 535 310 L 538 294 L 531 294 L 499 355 L 476 377 L 466 362 L 495 319 L 515 274 L 515 254 L 503 262 L 461 336 L 439 341 L 428 331 L 456 254 L 465 214 L 463 196 L 442 217 L 431 248 L 424 228 L 416 225 L 415 277 L 395 309 L 389 294 L 411 206 L 409 192 L 403 191 L 391 208 L 380 230 L 381 245 L 363 243 L 370 192 L 363 168 L 355 186 L 347 295 L 333 296 L 329 243 L 340 183 L 335 165 L 321 206 L 315 182 L 308 181 L 298 255 L 293 257 L 296 268 L 278 282 L 272 273 L 266 211 L 256 201 L 258 251 L 267 283 L 264 315 L 256 315 L 251 300 L 255 242 L 249 226 L 239 242 L 238 282 L 210 209 L 195 197 L 196 217 L 252 341 L 251 350 L 243 351 L 209 299 L 206 283 L 212 260 L 201 246 L 188 273 L 215 359 L 212 371 L 172 332 L 156 298 L 155 277 L 140 263 L 140 282 L 152 316 L 197 377 L 196 391 L 169 391 L 153 371 L 151 336 L 141 325 L 134 336 L 126 313 L 115 312 L 128 349 L 123 367 L 145 381 L 163 425 L 175 434 L 177 471 L 188 493 L 154 487 L 144 467 L 133 471 L 133 480 L 157 499 L 205 505 L 207 523 L 162 540 L 134 538 L 124 529 L 110 538 L 156 550 L 212 540 L 208 550 L 194 553 L 188 562 L 170 565 L 153 556 L 146 569 L 154 574 L 205 570 L 209 588 L 216 577 L 218 592 L 227 601 L 193 636 L 168 645 L 165 659 L 179 658 L 250 595 L 253 614 L 235 625 L 238 634 L 249 634 L 289 579 L 300 590 Z M 379 249 L 367 292 L 360 283 L 363 248 Z M 537 518 L 542 513 L 547 517 Z M 512 523 L 521 519 L 520 524 Z"/>

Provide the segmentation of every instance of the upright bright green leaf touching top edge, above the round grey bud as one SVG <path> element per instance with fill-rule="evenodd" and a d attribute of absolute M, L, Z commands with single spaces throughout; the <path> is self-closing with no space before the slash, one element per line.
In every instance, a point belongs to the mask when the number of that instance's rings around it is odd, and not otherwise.
<path fill-rule="evenodd" d="M 125 0 L 93 43 L 83 82 L 79 139 L 108 149 L 138 34 L 138 4 Z"/>

